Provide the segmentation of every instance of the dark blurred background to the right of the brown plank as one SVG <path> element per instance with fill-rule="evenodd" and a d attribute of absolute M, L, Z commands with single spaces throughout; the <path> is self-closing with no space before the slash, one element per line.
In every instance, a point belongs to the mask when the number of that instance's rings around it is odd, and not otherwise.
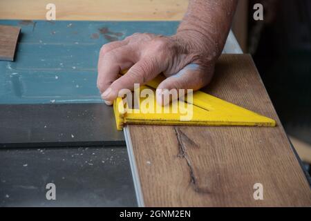
<path fill-rule="evenodd" d="M 254 4 L 263 21 L 254 21 Z M 240 0 L 233 24 L 253 55 L 285 131 L 305 166 L 311 164 L 311 1 Z"/>

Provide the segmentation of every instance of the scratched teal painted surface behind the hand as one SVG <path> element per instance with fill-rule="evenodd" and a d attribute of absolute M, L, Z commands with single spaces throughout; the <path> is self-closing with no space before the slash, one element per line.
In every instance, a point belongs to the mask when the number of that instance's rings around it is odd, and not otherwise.
<path fill-rule="evenodd" d="M 15 61 L 0 61 L 0 104 L 100 103 L 97 59 L 103 44 L 135 32 L 173 35 L 176 21 L 19 21 Z"/>

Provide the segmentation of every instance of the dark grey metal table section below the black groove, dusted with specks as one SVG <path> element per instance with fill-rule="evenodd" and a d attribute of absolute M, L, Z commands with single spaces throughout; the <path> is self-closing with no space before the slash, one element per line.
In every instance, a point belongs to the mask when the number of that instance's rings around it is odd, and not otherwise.
<path fill-rule="evenodd" d="M 1 148 L 0 168 L 0 206 L 137 205 L 125 146 Z"/>

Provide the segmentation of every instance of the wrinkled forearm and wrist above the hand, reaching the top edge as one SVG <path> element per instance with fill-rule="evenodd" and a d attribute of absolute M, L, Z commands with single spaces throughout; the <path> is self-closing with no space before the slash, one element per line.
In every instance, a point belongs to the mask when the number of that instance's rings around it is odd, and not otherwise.
<path fill-rule="evenodd" d="M 176 35 L 188 39 L 188 44 L 199 44 L 211 59 L 218 57 L 225 46 L 237 3 L 238 0 L 190 0 Z"/>

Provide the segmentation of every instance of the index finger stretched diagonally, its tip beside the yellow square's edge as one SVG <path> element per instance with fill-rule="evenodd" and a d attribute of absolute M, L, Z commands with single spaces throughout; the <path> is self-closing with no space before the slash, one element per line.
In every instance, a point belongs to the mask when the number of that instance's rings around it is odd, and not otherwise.
<path fill-rule="evenodd" d="M 147 81 L 150 81 L 156 77 L 156 75 L 161 73 L 161 68 L 162 67 L 154 58 L 138 61 L 138 63 L 134 64 L 129 69 L 126 75 L 123 75 L 111 84 L 106 90 L 108 92 L 103 94 L 103 99 L 112 102 L 118 96 L 120 90 L 125 88 L 133 90 L 134 84 L 146 84 Z"/>

